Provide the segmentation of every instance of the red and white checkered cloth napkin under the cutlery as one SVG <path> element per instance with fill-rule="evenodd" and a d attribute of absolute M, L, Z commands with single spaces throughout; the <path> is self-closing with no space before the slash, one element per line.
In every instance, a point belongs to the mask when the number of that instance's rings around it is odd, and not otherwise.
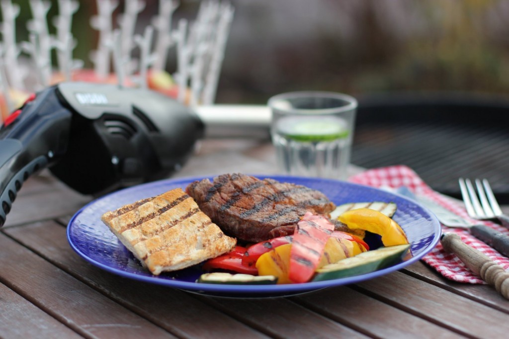
<path fill-rule="evenodd" d="M 397 188 L 400 186 L 407 186 L 415 194 L 426 196 L 451 212 L 472 222 L 478 222 L 468 217 L 463 204 L 434 191 L 423 182 L 411 168 L 404 165 L 367 170 L 350 177 L 349 181 L 373 187 L 389 186 Z M 499 232 L 509 234 L 509 230 L 494 222 L 486 221 L 484 223 Z M 509 269 L 509 259 L 500 255 L 499 252 L 489 247 L 484 242 L 471 236 L 468 230 L 450 229 L 443 225 L 442 230 L 444 232 L 454 232 L 458 234 L 467 245 L 485 253 L 505 270 Z M 448 279 L 460 281 L 462 283 L 485 284 L 485 282 L 477 275 L 473 274 L 456 255 L 444 251 L 440 243 L 423 257 L 422 260 Z"/>

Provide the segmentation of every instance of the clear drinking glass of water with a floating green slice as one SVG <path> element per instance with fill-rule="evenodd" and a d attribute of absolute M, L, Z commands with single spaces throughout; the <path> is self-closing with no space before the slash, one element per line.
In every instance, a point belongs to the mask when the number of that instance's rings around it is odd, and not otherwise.
<path fill-rule="evenodd" d="M 268 101 L 279 170 L 344 180 L 350 163 L 357 100 L 333 92 L 290 92 Z"/>

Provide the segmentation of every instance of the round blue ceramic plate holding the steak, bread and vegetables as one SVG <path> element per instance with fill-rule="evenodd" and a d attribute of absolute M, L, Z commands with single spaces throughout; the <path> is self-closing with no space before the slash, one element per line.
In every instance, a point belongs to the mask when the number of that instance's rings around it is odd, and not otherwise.
<path fill-rule="evenodd" d="M 370 201 L 396 203 L 398 210 L 393 218 L 405 231 L 411 243 L 412 256 L 400 264 L 376 272 L 313 283 L 265 286 L 200 284 L 195 283 L 196 278 L 202 273 L 199 266 L 177 272 L 163 273 L 159 276 L 152 275 L 148 270 L 140 266 L 131 252 L 100 220 L 101 215 L 107 211 L 115 210 L 123 205 L 158 195 L 177 187 L 184 189 L 194 180 L 203 178 L 157 181 L 103 196 L 83 207 L 73 216 L 67 228 L 67 237 L 71 247 L 78 255 L 106 271 L 146 281 L 147 283 L 164 285 L 189 292 L 230 297 L 284 296 L 357 283 L 358 281 L 400 270 L 418 261 L 439 241 L 440 223 L 436 217 L 427 209 L 403 196 L 336 180 L 283 176 L 271 176 L 271 178 L 281 182 L 291 182 L 318 189 L 327 195 L 336 205 Z"/>

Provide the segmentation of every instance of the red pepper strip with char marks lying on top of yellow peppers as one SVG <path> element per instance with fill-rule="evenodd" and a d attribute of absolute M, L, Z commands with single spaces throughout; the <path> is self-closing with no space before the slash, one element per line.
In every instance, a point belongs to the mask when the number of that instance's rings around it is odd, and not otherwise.
<path fill-rule="evenodd" d="M 306 212 L 297 223 L 290 254 L 289 278 L 305 283 L 315 273 L 334 225 L 323 216 Z"/>

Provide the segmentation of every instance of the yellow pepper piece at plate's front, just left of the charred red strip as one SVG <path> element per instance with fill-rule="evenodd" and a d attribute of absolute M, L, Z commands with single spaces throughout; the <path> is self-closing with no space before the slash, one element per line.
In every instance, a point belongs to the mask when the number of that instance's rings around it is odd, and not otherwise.
<path fill-rule="evenodd" d="M 256 262 L 258 275 L 274 275 L 277 277 L 277 284 L 292 284 L 288 277 L 291 248 L 292 244 L 285 244 L 263 253 Z"/>

